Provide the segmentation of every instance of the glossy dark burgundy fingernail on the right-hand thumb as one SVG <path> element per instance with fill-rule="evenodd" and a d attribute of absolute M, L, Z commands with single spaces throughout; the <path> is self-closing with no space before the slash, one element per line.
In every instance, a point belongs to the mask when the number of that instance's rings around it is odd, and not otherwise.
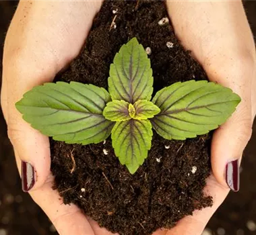
<path fill-rule="evenodd" d="M 240 176 L 239 176 L 239 160 L 233 160 L 226 164 L 226 183 L 232 191 L 239 191 Z"/>

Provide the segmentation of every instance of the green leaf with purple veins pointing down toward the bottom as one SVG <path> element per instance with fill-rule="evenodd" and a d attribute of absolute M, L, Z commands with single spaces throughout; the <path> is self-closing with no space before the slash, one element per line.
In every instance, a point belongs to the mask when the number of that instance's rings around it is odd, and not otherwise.
<path fill-rule="evenodd" d="M 152 125 L 149 120 L 117 122 L 112 130 L 112 144 L 121 164 L 131 174 L 143 164 L 151 148 Z"/>

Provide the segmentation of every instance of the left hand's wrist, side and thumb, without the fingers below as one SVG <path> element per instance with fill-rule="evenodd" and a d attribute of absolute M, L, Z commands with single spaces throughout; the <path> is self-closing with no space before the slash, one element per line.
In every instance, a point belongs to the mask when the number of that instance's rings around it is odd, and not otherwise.
<path fill-rule="evenodd" d="M 22 160 L 24 191 L 43 185 L 50 173 L 50 148 L 49 139 L 22 120 L 15 103 L 32 87 L 53 81 L 78 54 L 100 4 L 21 2 L 15 12 L 3 56 L 2 103 L 8 136 Z M 92 9 L 89 11 L 88 7 Z M 13 41 L 16 34 L 20 40 Z"/>

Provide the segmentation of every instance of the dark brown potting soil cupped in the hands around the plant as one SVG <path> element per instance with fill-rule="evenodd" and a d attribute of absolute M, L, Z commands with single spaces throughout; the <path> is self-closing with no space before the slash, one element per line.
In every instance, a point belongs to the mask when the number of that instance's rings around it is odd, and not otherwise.
<path fill-rule="evenodd" d="M 160 0 L 104 1 L 86 46 L 55 80 L 107 88 L 110 63 L 133 37 L 152 50 L 154 92 L 177 81 L 207 79 L 172 26 L 158 24 L 166 16 Z M 52 140 L 55 187 L 65 203 L 75 203 L 111 232 L 149 235 L 212 204 L 203 194 L 210 175 L 210 141 L 210 135 L 175 141 L 154 133 L 148 158 L 131 175 L 115 156 L 110 138 L 88 146 Z"/>

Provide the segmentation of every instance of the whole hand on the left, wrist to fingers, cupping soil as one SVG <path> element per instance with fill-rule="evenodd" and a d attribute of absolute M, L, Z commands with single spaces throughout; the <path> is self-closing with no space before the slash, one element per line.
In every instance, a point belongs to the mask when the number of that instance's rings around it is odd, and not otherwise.
<path fill-rule="evenodd" d="M 75 205 L 64 205 L 52 189 L 49 138 L 15 109 L 26 91 L 53 81 L 81 50 L 102 1 L 20 2 L 3 54 L 1 107 L 24 191 L 40 205 L 61 235 L 109 235 Z M 21 167 L 23 165 L 23 167 Z M 33 177 L 27 176 L 34 175 Z"/>

